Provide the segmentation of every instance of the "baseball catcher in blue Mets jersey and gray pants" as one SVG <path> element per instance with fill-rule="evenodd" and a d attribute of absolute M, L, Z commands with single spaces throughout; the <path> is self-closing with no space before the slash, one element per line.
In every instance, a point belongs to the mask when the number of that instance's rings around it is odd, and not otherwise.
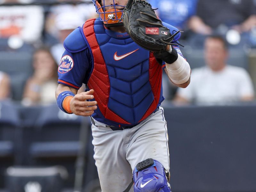
<path fill-rule="evenodd" d="M 180 31 L 162 22 L 145 1 L 92 1 L 99 18 L 86 21 L 64 42 L 58 106 L 91 117 L 102 192 L 170 192 L 162 71 L 177 86 L 188 86 Z M 85 92 L 77 94 L 83 83 Z"/>

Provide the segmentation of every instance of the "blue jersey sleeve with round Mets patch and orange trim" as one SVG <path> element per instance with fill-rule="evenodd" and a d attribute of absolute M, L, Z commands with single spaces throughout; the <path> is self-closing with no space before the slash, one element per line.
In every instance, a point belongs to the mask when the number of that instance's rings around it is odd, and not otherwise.
<path fill-rule="evenodd" d="M 58 83 L 79 89 L 87 83 L 92 70 L 92 57 L 88 48 L 81 52 L 63 53 L 58 67 Z"/>

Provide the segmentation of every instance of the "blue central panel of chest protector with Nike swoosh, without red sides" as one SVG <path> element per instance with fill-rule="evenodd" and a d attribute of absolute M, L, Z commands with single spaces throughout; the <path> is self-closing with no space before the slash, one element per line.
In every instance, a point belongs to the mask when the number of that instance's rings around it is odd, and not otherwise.
<path fill-rule="evenodd" d="M 149 51 L 126 33 L 106 30 L 100 20 L 95 21 L 94 31 L 108 70 L 108 108 L 128 123 L 137 124 L 154 100 L 149 83 Z"/>

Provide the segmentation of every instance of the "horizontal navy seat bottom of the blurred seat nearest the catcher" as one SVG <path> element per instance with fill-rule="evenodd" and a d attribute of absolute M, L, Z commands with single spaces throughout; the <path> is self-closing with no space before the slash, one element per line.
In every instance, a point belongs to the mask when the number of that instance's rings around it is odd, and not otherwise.
<path fill-rule="evenodd" d="M 33 157 L 77 156 L 78 141 L 36 142 L 32 143 L 30 154 Z"/>

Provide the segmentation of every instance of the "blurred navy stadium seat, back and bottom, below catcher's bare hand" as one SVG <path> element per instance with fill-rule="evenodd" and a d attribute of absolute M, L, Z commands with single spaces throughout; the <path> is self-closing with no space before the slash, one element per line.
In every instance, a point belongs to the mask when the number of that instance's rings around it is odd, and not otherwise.
<path fill-rule="evenodd" d="M 76 156 L 80 125 L 80 116 L 66 114 L 56 104 L 42 107 L 35 123 L 35 142 L 31 144 L 30 154 L 34 158 Z"/>

